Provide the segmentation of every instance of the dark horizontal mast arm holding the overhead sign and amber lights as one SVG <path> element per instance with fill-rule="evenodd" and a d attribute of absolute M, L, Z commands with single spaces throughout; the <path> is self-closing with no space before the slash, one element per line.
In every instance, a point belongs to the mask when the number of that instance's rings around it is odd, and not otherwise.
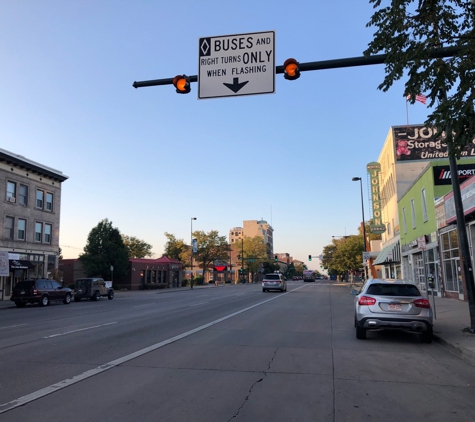
<path fill-rule="evenodd" d="M 431 58 L 452 57 L 466 47 L 443 47 L 432 51 Z M 298 70 L 305 72 L 308 70 L 338 69 L 342 67 L 368 66 L 373 64 L 383 64 L 386 61 L 387 54 L 376 54 L 374 56 L 349 57 L 346 59 L 323 60 L 319 62 L 298 63 Z M 285 73 L 284 66 L 276 66 L 275 73 Z M 188 76 L 190 82 L 198 82 L 198 75 Z M 147 86 L 173 85 L 175 78 L 154 79 L 150 81 L 134 82 L 134 88 L 144 88 Z"/>

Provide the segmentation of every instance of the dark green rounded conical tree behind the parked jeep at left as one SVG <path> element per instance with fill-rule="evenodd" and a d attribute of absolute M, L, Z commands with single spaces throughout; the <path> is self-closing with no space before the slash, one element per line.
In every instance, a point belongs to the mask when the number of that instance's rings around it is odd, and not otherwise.
<path fill-rule="evenodd" d="M 79 255 L 84 272 L 88 277 L 102 277 L 110 280 L 111 265 L 117 278 L 127 275 L 129 253 L 119 229 L 112 227 L 107 218 L 94 227 L 87 238 L 84 253 Z"/>

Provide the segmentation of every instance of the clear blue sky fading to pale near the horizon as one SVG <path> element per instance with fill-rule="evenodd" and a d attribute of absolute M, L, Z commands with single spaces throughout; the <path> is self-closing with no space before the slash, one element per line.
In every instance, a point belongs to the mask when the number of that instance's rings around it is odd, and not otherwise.
<path fill-rule="evenodd" d="M 4 0 L 0 148 L 63 172 L 60 247 L 75 258 L 109 219 L 164 250 L 165 232 L 228 237 L 243 220 L 274 228 L 274 252 L 318 269 L 332 236 L 358 233 L 366 164 L 391 126 L 423 123 L 384 66 L 276 75 L 275 93 L 197 98 L 134 81 L 198 74 L 202 37 L 275 31 L 276 65 L 360 57 L 369 1 Z"/>

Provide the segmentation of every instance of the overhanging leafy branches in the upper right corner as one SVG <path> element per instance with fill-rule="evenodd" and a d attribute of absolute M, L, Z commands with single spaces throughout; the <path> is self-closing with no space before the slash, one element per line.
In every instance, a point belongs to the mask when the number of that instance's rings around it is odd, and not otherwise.
<path fill-rule="evenodd" d="M 369 0 L 376 27 L 365 55 L 387 54 L 386 76 L 378 89 L 387 91 L 407 78 L 404 97 L 425 94 L 434 111 L 424 122 L 446 133 L 449 151 L 460 157 L 475 135 L 475 4 L 470 0 Z M 384 2 L 387 3 L 387 2 Z M 449 58 L 432 58 L 435 49 L 461 48 Z"/>

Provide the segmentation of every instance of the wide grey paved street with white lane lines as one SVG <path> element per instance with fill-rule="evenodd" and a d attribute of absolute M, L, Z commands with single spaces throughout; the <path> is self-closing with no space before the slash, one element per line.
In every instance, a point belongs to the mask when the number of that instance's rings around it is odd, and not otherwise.
<path fill-rule="evenodd" d="M 331 283 L 0 309 L 0 420 L 475 420 L 475 367 L 411 334 L 356 340 Z"/>

